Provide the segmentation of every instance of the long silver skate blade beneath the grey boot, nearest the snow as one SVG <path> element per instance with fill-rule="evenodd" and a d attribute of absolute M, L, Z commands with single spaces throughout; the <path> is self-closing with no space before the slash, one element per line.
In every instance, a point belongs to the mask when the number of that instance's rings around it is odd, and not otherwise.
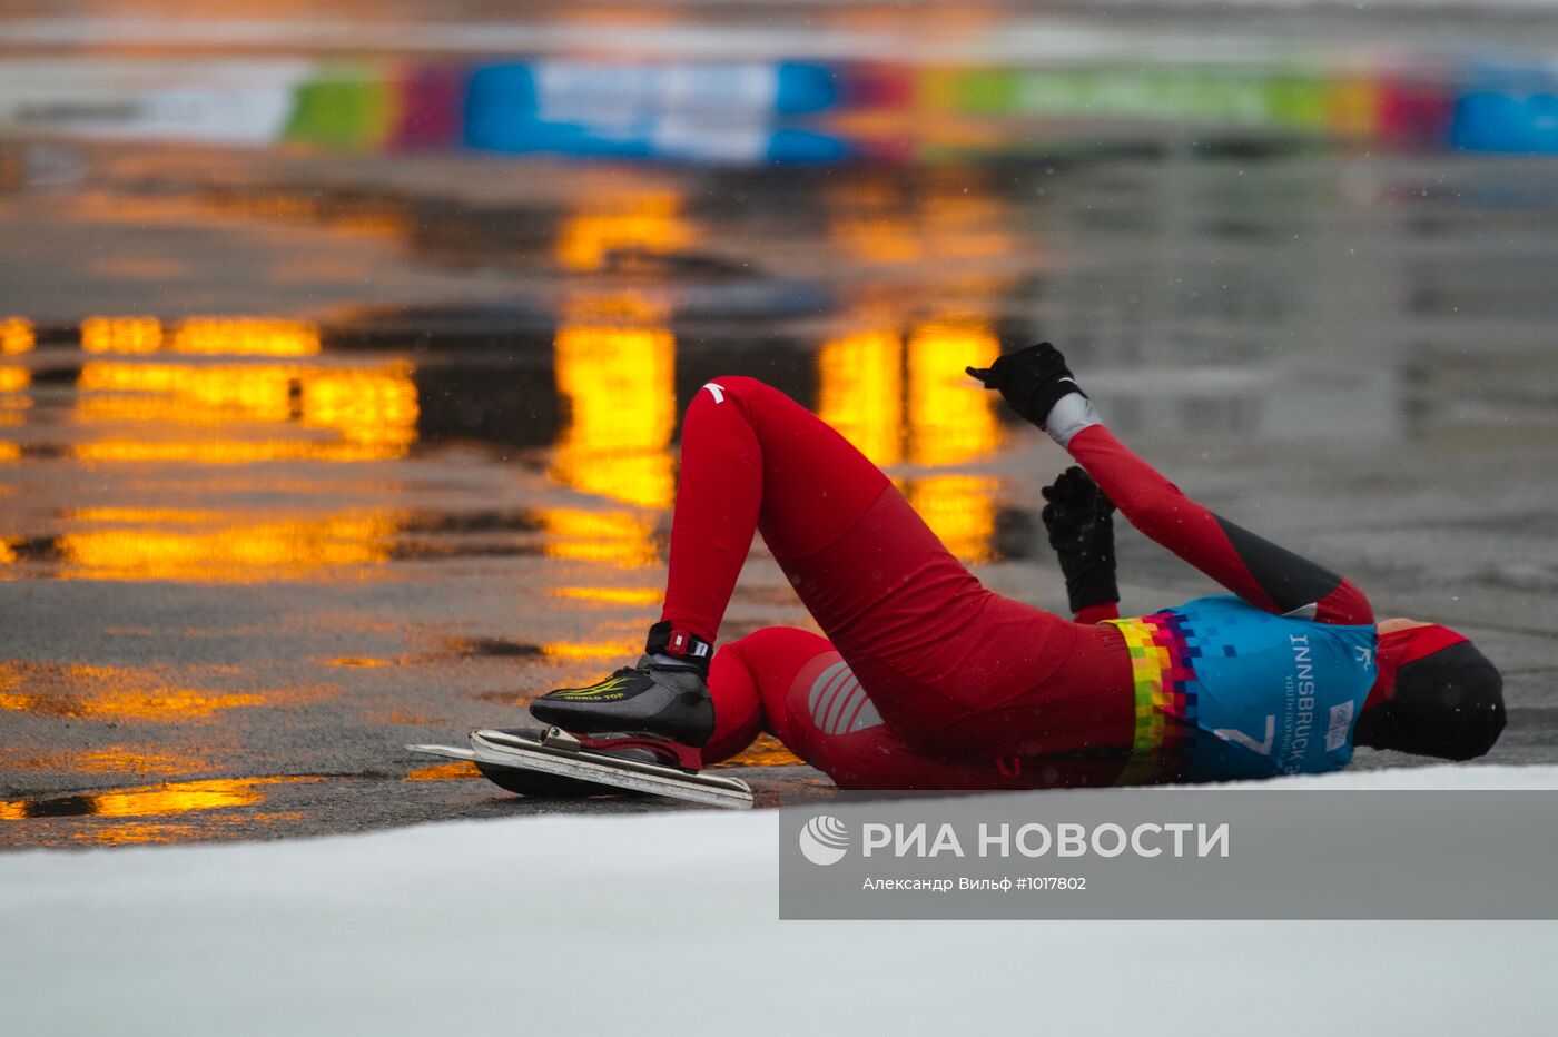
<path fill-rule="evenodd" d="M 562 777 L 668 796 L 692 803 L 751 810 L 753 789 L 740 779 L 689 774 L 636 760 L 615 760 L 589 751 L 561 751 L 495 730 L 471 733 L 475 758 L 494 766 L 542 771 Z"/>

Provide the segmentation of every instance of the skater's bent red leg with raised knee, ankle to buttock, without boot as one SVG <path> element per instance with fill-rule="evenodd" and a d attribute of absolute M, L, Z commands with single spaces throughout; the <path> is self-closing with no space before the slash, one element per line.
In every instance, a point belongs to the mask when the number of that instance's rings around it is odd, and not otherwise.
<path fill-rule="evenodd" d="M 1024 698 L 1072 654 L 1073 624 L 985 590 L 876 466 L 777 389 L 704 386 L 682 456 L 662 626 L 717 627 L 756 500 L 801 601 L 882 690 L 888 721 L 918 736 Z M 726 508 L 729 494 L 745 503 Z"/>

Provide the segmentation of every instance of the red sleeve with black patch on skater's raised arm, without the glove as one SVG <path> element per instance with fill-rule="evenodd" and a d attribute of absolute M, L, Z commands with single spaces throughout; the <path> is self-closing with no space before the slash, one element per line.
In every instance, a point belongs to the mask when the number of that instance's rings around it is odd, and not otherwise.
<path fill-rule="evenodd" d="M 1212 514 L 1102 424 L 1086 425 L 1064 445 L 1133 526 L 1250 604 L 1321 623 L 1374 621 L 1351 581 Z"/>

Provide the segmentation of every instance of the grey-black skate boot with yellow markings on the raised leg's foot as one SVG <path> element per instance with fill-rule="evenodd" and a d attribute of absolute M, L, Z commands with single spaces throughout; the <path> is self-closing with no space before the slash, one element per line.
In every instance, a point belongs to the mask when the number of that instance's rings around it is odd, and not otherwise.
<path fill-rule="evenodd" d="M 530 715 L 572 735 L 595 735 L 592 747 L 642 736 L 701 747 L 714 736 L 709 660 L 714 646 L 668 621 L 650 627 L 643 656 L 584 688 L 558 688 L 530 704 Z"/>

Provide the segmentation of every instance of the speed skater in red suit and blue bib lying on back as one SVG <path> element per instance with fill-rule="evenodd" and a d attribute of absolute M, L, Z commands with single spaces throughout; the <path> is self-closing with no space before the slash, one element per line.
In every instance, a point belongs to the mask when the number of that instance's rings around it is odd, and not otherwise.
<path fill-rule="evenodd" d="M 1351 581 L 1186 497 L 1109 433 L 1053 346 L 968 371 L 1080 466 L 1042 512 L 1070 620 L 986 590 L 795 400 L 715 378 L 687 408 L 643 657 L 531 713 L 608 751 L 659 740 L 682 766 L 768 730 L 871 789 L 1313 774 L 1354 744 L 1469 760 L 1497 741 L 1502 679 L 1466 637 L 1376 623 Z M 1122 618 L 1116 509 L 1232 593 Z M 754 533 L 826 637 L 767 627 L 715 651 Z"/>

